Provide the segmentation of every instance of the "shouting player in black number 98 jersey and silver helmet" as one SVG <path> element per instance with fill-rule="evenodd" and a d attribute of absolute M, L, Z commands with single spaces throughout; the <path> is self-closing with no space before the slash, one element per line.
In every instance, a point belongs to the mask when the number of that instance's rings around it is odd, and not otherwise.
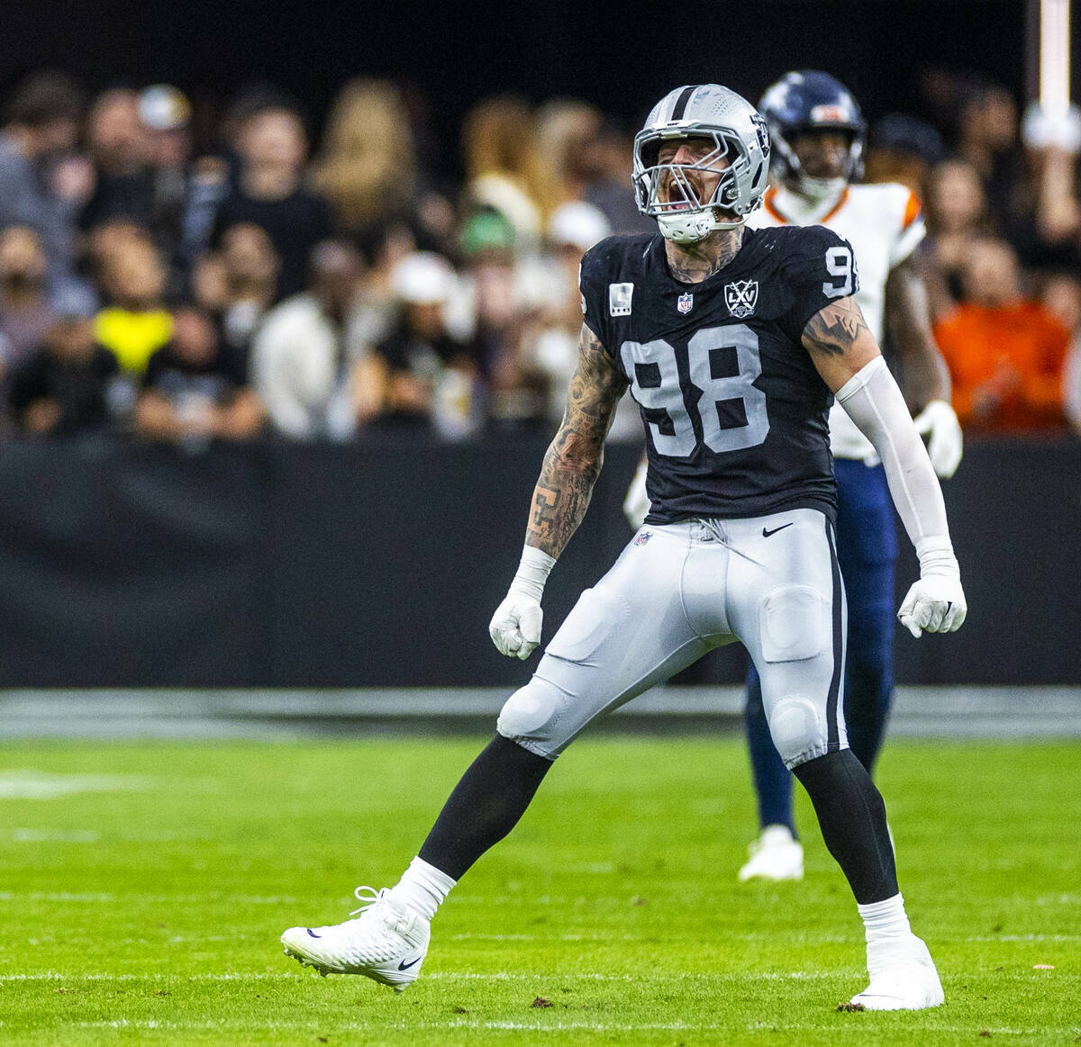
<path fill-rule="evenodd" d="M 885 462 L 917 547 L 920 579 L 903 617 L 948 632 L 964 619 L 964 594 L 934 471 L 852 297 L 851 246 L 817 227 L 745 226 L 769 153 L 759 113 L 716 84 L 670 92 L 637 135 L 639 207 L 660 236 L 611 238 L 583 259 L 578 366 L 518 573 L 490 627 L 499 650 L 526 658 L 539 642 L 545 581 L 586 512 L 628 386 L 648 430 L 650 520 L 504 706 L 496 737 L 399 883 L 372 891 L 357 920 L 285 931 L 285 951 L 303 963 L 404 988 L 448 891 L 517 824 L 578 733 L 738 639 L 864 918 L 870 984 L 855 1002 L 942 1003 L 898 892 L 882 797 L 845 740 L 831 392 Z"/>

